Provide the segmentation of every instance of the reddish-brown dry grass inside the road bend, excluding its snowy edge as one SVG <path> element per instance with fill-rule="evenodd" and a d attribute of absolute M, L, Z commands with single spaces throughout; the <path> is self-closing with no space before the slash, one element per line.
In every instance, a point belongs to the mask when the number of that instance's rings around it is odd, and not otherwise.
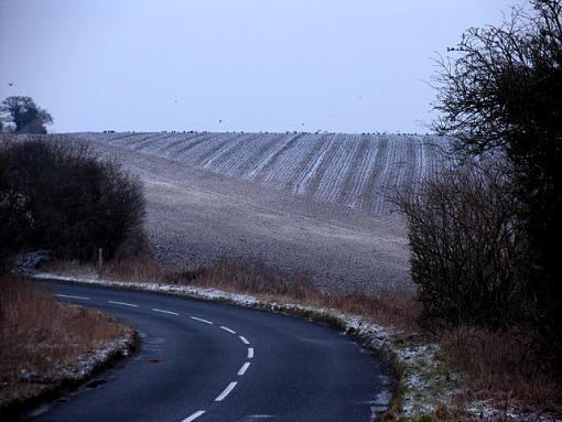
<path fill-rule="evenodd" d="M 125 329 L 105 314 L 61 303 L 21 278 L 0 277 L 0 409 L 46 391 L 57 369 L 122 338 Z"/>

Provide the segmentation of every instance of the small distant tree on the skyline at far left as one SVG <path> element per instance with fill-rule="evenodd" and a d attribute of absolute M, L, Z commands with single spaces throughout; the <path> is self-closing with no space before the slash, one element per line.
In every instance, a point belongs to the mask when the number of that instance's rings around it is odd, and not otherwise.
<path fill-rule="evenodd" d="M 0 111 L 10 117 L 15 126 L 15 133 L 46 133 L 45 125 L 53 122 L 51 115 L 40 108 L 31 97 L 8 97 Z"/>

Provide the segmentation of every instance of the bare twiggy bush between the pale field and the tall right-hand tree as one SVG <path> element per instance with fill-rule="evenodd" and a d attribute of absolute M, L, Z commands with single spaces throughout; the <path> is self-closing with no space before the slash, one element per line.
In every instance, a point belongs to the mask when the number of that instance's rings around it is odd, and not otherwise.
<path fill-rule="evenodd" d="M 504 169 L 465 163 L 403 194 L 399 205 L 425 325 L 502 329 L 529 315 L 525 232 Z"/>

